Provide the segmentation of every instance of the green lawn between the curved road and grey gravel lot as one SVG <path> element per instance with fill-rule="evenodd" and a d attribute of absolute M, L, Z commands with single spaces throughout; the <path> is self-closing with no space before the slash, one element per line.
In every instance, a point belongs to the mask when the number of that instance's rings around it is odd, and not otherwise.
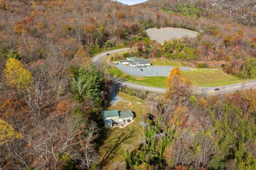
<path fill-rule="evenodd" d="M 166 87 L 166 77 L 132 77 L 131 75 L 127 75 L 118 70 L 116 67 L 111 67 L 110 72 L 115 77 L 122 78 L 133 83 L 161 88 Z M 182 71 L 182 77 L 189 79 L 193 85 L 200 87 L 225 86 L 228 84 L 244 81 L 228 75 L 222 70 L 201 69 L 193 71 Z"/>

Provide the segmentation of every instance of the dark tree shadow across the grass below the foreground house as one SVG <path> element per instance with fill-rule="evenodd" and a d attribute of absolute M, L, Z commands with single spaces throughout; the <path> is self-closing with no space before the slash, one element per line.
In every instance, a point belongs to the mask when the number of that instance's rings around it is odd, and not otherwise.
<path fill-rule="evenodd" d="M 109 133 L 109 140 L 106 140 L 103 143 L 105 146 L 101 146 L 101 149 L 105 150 L 105 155 L 101 159 L 99 164 L 100 167 L 106 165 L 114 156 L 124 154 L 123 152 L 117 153 L 117 150 L 119 147 L 122 147 L 123 142 L 132 137 L 134 132 L 134 130 L 129 131 L 127 129 L 125 131 L 120 131 L 119 128 L 115 128 L 114 131 Z"/>

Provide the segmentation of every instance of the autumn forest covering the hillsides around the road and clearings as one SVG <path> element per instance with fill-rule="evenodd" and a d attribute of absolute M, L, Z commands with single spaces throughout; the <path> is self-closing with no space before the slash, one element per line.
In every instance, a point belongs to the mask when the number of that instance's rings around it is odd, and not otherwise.
<path fill-rule="evenodd" d="M 90 58 L 136 47 L 134 55 L 256 77 L 256 2 L 0 0 L 0 169 L 107 169 L 101 112 L 115 81 Z M 196 38 L 159 44 L 148 28 L 185 28 Z M 171 71 L 166 94 L 143 96 L 154 119 L 116 169 L 256 169 L 256 91 L 193 95 Z M 143 95 L 142 95 L 143 94 Z"/>

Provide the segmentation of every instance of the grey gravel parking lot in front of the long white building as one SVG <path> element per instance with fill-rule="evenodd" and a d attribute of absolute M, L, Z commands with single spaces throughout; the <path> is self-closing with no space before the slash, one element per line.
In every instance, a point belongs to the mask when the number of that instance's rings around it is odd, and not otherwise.
<path fill-rule="evenodd" d="M 122 72 L 132 75 L 134 77 L 159 77 L 164 76 L 168 77 L 169 72 L 173 69 L 174 66 L 147 66 L 147 67 L 137 67 L 129 65 L 115 65 L 117 69 Z M 143 71 L 141 71 L 142 69 Z M 189 67 L 180 67 L 182 71 L 191 70 Z"/>

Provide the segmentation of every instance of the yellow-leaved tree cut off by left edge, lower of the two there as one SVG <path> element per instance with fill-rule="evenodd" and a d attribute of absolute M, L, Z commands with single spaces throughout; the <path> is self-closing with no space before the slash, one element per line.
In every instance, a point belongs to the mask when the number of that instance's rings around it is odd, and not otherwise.
<path fill-rule="evenodd" d="M 9 123 L 0 118 L 0 145 L 21 137 L 21 133 L 16 132 Z"/>

